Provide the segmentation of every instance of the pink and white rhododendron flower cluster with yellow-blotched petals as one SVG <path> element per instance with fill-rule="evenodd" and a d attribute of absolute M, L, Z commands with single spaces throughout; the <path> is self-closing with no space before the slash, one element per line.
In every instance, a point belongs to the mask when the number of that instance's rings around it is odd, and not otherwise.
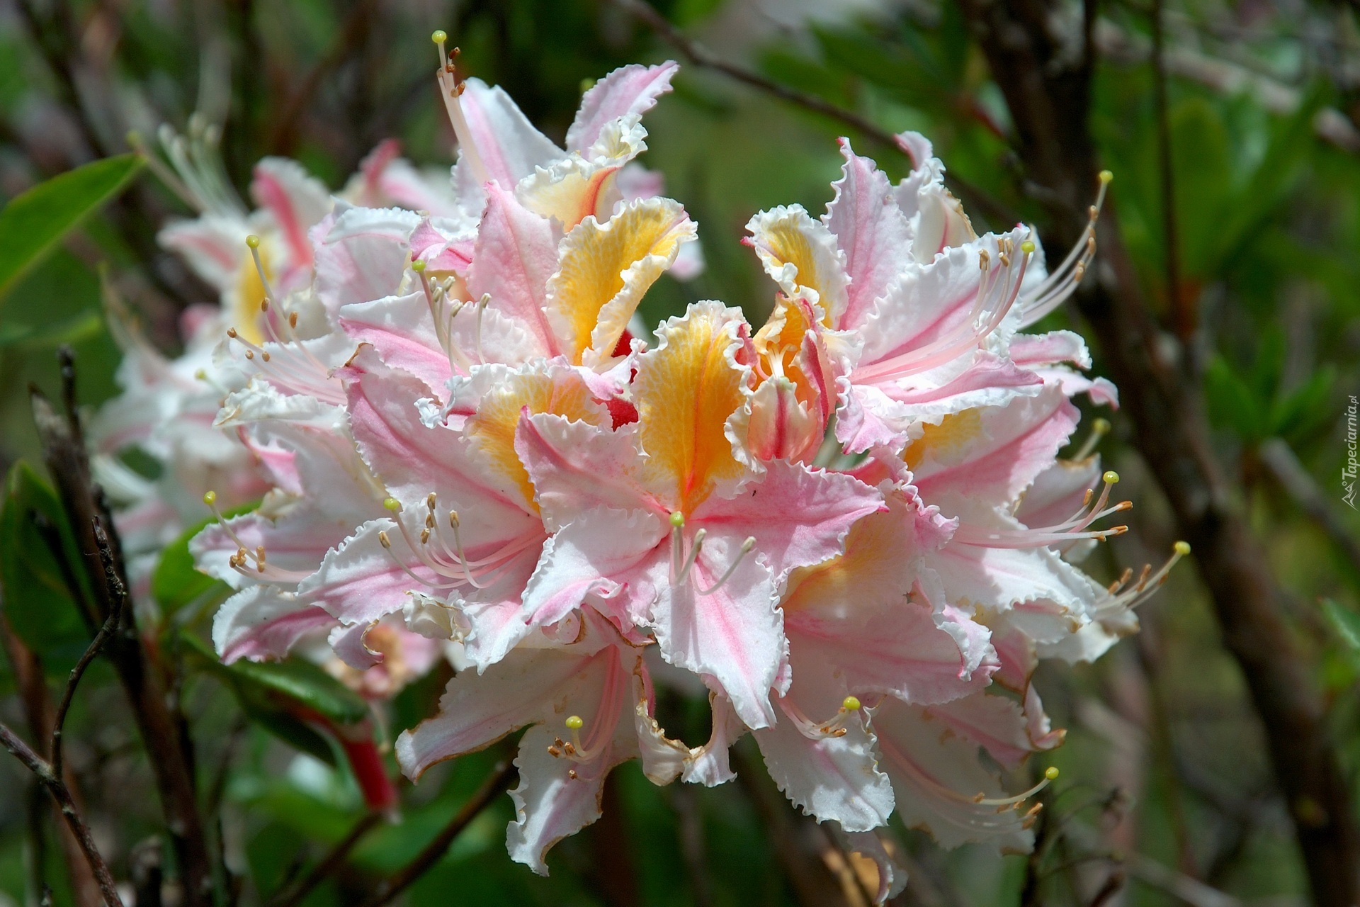
<path fill-rule="evenodd" d="M 676 69 L 609 73 L 560 148 L 442 57 L 442 207 L 288 207 L 296 170 L 261 165 L 268 228 L 233 222 L 201 268 L 223 290 L 203 328 L 214 443 L 248 466 L 196 479 L 214 510 L 268 490 L 192 543 L 235 589 L 216 649 L 320 646 L 375 698 L 447 653 L 401 768 L 528 729 L 507 844 L 540 873 L 615 766 L 719 785 L 747 733 L 797 806 L 880 861 L 880 897 L 904 878 L 880 838 L 895 810 L 944 846 L 1028 849 L 1016 770 L 1062 740 L 1039 660 L 1137 630 L 1186 551 L 1110 587 L 1076 566 L 1130 504 L 1099 432 L 1059 457 L 1072 400 L 1117 396 L 1074 333 L 1021 333 L 1080 283 L 1108 178 L 1050 272 L 1028 227 L 975 234 L 923 137 L 899 137 L 896 184 L 842 140 L 823 216 L 748 224 L 771 298 L 740 302 L 772 302 L 764 322 L 706 301 L 651 333 L 643 294 L 702 267 L 696 224 L 634 160 Z M 230 230 L 205 215 L 167 242 Z M 706 688 L 709 740 L 661 725 L 657 685 Z"/>

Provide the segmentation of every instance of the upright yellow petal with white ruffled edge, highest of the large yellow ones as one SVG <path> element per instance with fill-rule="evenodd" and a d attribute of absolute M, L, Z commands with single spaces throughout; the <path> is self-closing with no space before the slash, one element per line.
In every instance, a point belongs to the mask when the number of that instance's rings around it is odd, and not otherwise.
<path fill-rule="evenodd" d="M 641 199 L 602 224 L 588 216 L 566 235 L 548 318 L 574 364 L 613 354 L 642 295 L 694 237 L 694 222 L 669 199 Z"/>

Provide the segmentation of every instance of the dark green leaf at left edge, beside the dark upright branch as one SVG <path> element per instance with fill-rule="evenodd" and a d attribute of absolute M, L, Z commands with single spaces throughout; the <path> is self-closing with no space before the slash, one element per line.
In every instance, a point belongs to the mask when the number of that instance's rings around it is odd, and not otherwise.
<path fill-rule="evenodd" d="M 39 530 L 39 519 L 46 522 L 49 532 Z M 0 544 L 0 586 L 4 587 L 5 620 L 39 657 L 75 661 L 90 642 L 90 630 L 49 547 L 53 537 L 65 551 L 67 563 L 79 570 L 79 551 L 56 492 L 33 466 L 19 461 L 10 469 L 0 506 L 0 538 L 4 540 Z"/>

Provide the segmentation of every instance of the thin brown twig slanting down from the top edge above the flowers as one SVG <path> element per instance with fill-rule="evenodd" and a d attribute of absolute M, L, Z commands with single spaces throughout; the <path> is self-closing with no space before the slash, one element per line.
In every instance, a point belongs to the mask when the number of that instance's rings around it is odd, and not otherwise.
<path fill-rule="evenodd" d="M 877 125 L 872 120 L 860 116 L 854 110 L 846 110 L 839 105 L 834 105 L 826 98 L 820 98 L 815 94 L 808 94 L 806 91 L 798 91 L 797 88 L 790 88 L 786 84 L 774 82 L 772 79 L 766 79 L 758 72 L 745 69 L 736 64 L 728 63 L 722 57 L 718 57 L 711 50 L 704 48 L 698 41 L 687 38 L 679 29 L 676 29 L 670 22 L 661 15 L 651 4 L 646 0 L 613 0 L 613 3 L 626 12 L 631 12 L 638 19 L 645 22 L 649 29 L 651 29 L 658 38 L 669 44 L 672 48 L 680 52 L 680 54 L 688 60 L 691 64 L 702 69 L 713 69 L 714 72 L 721 72 L 722 75 L 740 82 L 744 86 L 763 91 L 768 95 L 779 98 L 781 101 L 787 101 L 789 103 L 802 107 L 804 110 L 811 110 L 812 113 L 830 117 L 836 120 L 865 139 L 869 139 L 885 148 L 891 148 L 898 154 L 906 156 L 908 160 L 911 156 L 907 154 L 906 148 L 898 141 L 898 137 Z M 914 162 L 913 162 L 914 163 Z M 970 205 L 981 208 L 987 218 L 998 224 L 1013 224 L 1017 218 L 1012 211 L 1009 211 L 1004 204 L 993 199 L 987 192 L 972 185 L 967 179 L 962 179 L 959 175 L 951 173 L 945 179 L 957 190 L 957 193 Z"/>

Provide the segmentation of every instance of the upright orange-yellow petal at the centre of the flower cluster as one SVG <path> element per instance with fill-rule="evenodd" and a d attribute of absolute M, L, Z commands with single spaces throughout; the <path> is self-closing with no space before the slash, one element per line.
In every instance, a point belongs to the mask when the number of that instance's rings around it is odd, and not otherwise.
<path fill-rule="evenodd" d="M 695 303 L 662 325 L 660 345 L 638 360 L 632 398 L 646 477 L 670 510 L 692 513 L 714 483 L 741 473 L 725 430 L 751 382 L 734 360 L 744 325 L 737 309 Z"/>

